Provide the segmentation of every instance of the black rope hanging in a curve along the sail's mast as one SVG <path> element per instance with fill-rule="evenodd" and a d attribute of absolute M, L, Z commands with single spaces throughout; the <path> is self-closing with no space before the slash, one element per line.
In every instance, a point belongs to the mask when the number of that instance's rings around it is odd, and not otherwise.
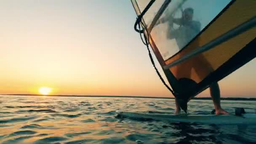
<path fill-rule="evenodd" d="M 141 37 L 141 41 L 144 43 L 144 45 L 147 46 L 147 50 L 148 50 L 148 52 L 149 52 L 150 61 L 151 61 L 152 65 L 153 65 L 153 67 L 155 68 L 155 71 L 156 71 L 158 77 L 160 78 L 160 80 L 162 81 L 162 83 L 165 85 L 165 87 L 166 87 L 169 91 L 171 91 L 171 93 L 174 95 L 173 90 L 165 83 L 165 81 L 163 80 L 163 77 L 160 75 L 160 72 L 158 71 L 157 67 L 155 66 L 155 62 L 154 62 L 154 60 L 153 60 L 153 58 L 152 58 L 152 54 L 151 54 L 151 52 L 150 52 L 150 50 L 149 50 L 149 38 L 150 38 L 150 37 L 149 37 L 149 33 L 148 33 L 148 30 L 147 30 L 146 25 L 145 25 L 143 22 L 141 22 L 142 17 L 144 16 L 144 14 L 148 11 L 148 9 L 151 7 L 151 5 L 152 5 L 154 2 L 155 2 L 155 0 L 151 0 L 151 1 L 149 2 L 149 4 L 147 5 L 147 7 L 146 7 L 146 8 L 142 11 L 142 13 L 137 17 L 136 22 L 135 22 L 135 24 L 134 24 L 134 29 L 135 29 L 136 32 L 139 32 L 140 37 Z M 142 24 L 142 26 L 144 27 L 144 29 L 146 30 L 147 36 L 146 36 L 146 34 L 144 33 L 144 30 L 141 29 L 141 24 Z M 139 29 L 137 29 L 137 26 L 139 27 Z M 142 33 L 143 33 L 143 36 L 144 36 L 144 40 L 145 40 L 145 41 L 143 40 Z"/>

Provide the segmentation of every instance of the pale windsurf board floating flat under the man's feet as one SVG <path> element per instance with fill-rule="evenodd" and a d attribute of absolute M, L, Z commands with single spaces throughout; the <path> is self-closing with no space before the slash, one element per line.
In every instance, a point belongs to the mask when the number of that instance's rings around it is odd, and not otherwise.
<path fill-rule="evenodd" d="M 146 112 L 116 111 L 117 117 L 132 119 L 150 119 L 170 122 L 184 123 L 206 123 L 206 124 L 256 124 L 256 114 L 245 113 L 237 115 L 173 115 Z"/>

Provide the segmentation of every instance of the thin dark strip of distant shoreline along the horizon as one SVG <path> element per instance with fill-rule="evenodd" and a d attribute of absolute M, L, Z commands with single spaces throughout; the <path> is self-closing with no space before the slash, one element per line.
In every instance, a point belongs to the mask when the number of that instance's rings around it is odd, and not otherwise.
<path fill-rule="evenodd" d="M 173 97 L 152 97 L 152 96 L 85 96 L 85 95 L 40 95 L 40 94 L 1 94 L 7 96 L 62 96 L 62 97 L 101 97 L 101 98 L 146 98 L 146 99 L 174 99 Z M 194 97 L 195 100 L 211 100 L 211 97 Z M 256 101 L 256 98 L 221 98 L 229 101 Z"/>

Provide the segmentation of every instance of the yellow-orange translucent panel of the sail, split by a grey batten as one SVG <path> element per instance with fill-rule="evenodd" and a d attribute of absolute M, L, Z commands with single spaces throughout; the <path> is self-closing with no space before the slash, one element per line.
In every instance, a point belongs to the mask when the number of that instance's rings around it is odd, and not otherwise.
<path fill-rule="evenodd" d="M 211 40 L 214 40 L 216 37 L 219 37 L 234 27 L 243 24 L 243 22 L 248 21 L 253 16 L 256 16 L 256 11 L 254 11 L 255 9 L 255 0 L 235 1 L 221 14 L 221 16 L 213 21 L 207 29 L 197 36 L 195 40 L 189 43 L 189 45 L 184 48 L 184 51 L 181 51 L 176 56 L 165 61 L 165 64 L 170 64 L 176 59 L 180 59 L 187 53 L 190 53 L 196 48 L 200 48 Z M 197 83 L 200 83 L 200 81 L 228 61 L 255 37 L 256 28 L 254 27 L 209 51 L 201 53 L 188 61 L 184 61 L 181 64 L 171 67 L 170 70 L 177 79 L 187 77 Z"/>

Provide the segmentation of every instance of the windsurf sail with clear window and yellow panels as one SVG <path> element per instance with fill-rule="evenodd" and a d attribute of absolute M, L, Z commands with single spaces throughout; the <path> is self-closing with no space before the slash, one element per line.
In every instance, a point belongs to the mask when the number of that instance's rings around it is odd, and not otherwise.
<path fill-rule="evenodd" d="M 256 0 L 131 2 L 134 28 L 151 46 L 175 97 L 191 99 L 256 57 Z"/>

